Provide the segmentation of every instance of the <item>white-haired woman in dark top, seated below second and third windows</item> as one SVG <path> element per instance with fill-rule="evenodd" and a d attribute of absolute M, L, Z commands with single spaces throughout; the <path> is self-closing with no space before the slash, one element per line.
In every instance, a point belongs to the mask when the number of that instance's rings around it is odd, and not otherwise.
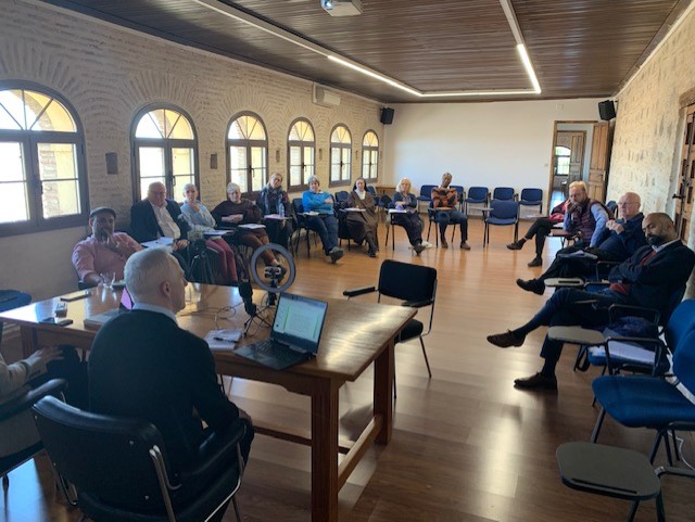
<path fill-rule="evenodd" d="M 253 250 L 260 249 L 264 244 L 268 244 L 270 240 L 265 228 L 245 228 L 239 225 L 258 224 L 261 221 L 261 208 L 252 201 L 241 199 L 241 189 L 237 183 L 227 186 L 227 201 L 223 201 L 213 208 L 212 213 L 215 222 L 218 226 L 235 226 L 233 241 L 245 244 Z M 266 266 L 280 266 L 271 251 L 265 251 L 262 254 Z M 280 266 L 282 273 L 287 268 Z"/>

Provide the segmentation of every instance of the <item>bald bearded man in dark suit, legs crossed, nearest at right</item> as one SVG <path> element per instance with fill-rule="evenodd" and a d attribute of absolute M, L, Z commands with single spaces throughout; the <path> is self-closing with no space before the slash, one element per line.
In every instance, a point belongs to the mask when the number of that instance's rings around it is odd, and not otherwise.
<path fill-rule="evenodd" d="M 647 242 L 628 260 L 615 267 L 608 277 L 610 288 L 601 292 L 560 289 L 547 300 L 533 318 L 515 330 L 488 336 L 488 342 L 507 348 L 521 346 L 526 336 L 543 326 L 605 324 L 603 308 L 612 304 L 644 306 L 665 310 L 672 294 L 682 289 L 695 266 L 695 253 L 678 239 L 673 221 L 667 214 L 647 215 L 642 224 Z M 599 309 L 591 304 L 595 303 Z M 541 357 L 545 359 L 539 373 L 514 381 L 519 389 L 557 390 L 555 366 L 560 358 L 563 342 L 545 336 Z"/>

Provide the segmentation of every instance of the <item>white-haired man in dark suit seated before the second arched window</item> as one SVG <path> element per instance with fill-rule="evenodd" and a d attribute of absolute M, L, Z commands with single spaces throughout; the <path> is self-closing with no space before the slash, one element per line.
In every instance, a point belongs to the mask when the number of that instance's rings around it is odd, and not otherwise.
<path fill-rule="evenodd" d="M 174 200 L 166 199 L 166 187 L 155 181 L 148 187 L 147 199 L 130 208 L 130 235 L 138 243 L 154 241 L 159 238 L 172 238 L 173 250 L 188 246 L 188 221 L 181 214 L 181 207 Z"/>

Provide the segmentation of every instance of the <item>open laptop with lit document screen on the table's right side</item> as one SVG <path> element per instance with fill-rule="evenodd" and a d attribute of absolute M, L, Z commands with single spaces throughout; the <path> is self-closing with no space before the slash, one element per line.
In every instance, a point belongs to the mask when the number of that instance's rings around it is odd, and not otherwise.
<path fill-rule="evenodd" d="M 328 303 L 302 295 L 281 293 L 270 338 L 248 344 L 235 354 L 282 370 L 311 359 L 318 352 Z"/>

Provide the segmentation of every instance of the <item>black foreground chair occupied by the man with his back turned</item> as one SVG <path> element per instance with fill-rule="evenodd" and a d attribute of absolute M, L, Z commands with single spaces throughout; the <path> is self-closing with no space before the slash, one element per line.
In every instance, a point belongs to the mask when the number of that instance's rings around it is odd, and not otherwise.
<path fill-rule="evenodd" d="M 63 493 L 90 519 L 200 522 L 231 500 L 241 520 L 235 494 L 245 423 L 215 434 L 194 468 L 175 472 L 149 422 L 81 411 L 54 397 L 39 400 L 34 413 Z"/>

